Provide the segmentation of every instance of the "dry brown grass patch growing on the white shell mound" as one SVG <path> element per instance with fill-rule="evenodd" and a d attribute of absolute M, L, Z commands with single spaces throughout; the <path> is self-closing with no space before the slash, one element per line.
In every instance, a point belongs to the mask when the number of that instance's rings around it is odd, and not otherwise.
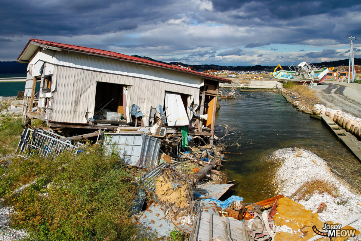
<path fill-rule="evenodd" d="M 297 195 L 297 201 L 305 199 L 306 201 L 314 194 L 314 193 L 328 193 L 334 198 L 340 196 L 338 188 L 335 184 L 319 179 L 314 179 L 309 181 L 305 187 L 299 192 Z"/>

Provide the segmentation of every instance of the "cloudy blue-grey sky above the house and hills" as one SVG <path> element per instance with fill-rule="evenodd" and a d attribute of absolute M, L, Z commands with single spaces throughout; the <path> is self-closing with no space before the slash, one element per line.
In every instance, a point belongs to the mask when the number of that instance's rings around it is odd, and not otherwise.
<path fill-rule="evenodd" d="M 2 0 L 0 61 L 30 38 L 166 62 L 290 65 L 361 57 L 359 0 Z"/>

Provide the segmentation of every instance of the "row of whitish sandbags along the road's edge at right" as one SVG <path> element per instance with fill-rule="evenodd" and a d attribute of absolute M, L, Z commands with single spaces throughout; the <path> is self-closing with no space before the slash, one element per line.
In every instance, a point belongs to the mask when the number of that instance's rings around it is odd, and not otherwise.
<path fill-rule="evenodd" d="M 345 112 L 326 108 L 324 105 L 315 104 L 313 106 L 314 115 L 326 115 L 336 124 L 347 130 L 357 138 L 361 138 L 361 119 L 346 114 Z"/>

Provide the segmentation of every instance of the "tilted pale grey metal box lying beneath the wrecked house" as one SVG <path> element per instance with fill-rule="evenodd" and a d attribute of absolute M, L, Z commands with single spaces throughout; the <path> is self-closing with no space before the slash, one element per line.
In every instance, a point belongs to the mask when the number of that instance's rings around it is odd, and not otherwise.
<path fill-rule="evenodd" d="M 129 165 L 153 168 L 158 164 L 160 144 L 160 139 L 143 133 L 104 133 L 103 147 Z"/>

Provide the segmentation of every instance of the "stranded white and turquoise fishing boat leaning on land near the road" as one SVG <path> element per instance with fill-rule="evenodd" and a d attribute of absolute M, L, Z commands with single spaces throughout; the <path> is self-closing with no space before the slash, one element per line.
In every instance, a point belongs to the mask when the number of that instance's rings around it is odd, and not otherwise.
<path fill-rule="evenodd" d="M 313 83 L 320 83 L 327 77 L 327 72 L 329 72 L 329 69 L 313 66 L 307 60 L 297 66 L 292 64 L 289 66 L 290 70 L 283 70 L 281 68 L 281 70 L 276 72 L 278 66 L 274 70 L 273 77 L 282 82 L 292 81 L 298 85 L 313 85 Z"/>

